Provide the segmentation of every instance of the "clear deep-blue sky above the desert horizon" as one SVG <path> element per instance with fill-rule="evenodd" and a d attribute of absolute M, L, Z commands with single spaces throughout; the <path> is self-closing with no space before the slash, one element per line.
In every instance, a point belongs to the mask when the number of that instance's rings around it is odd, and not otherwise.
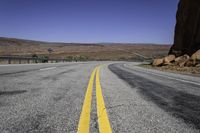
<path fill-rule="evenodd" d="M 0 36 L 173 43 L 179 0 L 0 0 Z"/>

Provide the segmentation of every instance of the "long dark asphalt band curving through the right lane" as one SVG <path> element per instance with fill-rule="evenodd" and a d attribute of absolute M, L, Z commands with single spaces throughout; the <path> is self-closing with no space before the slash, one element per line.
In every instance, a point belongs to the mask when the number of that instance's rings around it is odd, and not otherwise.
<path fill-rule="evenodd" d="M 145 100 L 154 102 L 166 112 L 200 129 L 200 96 L 149 81 L 145 77 L 135 75 L 120 67 L 122 66 L 119 64 L 108 66 L 120 79 L 127 82 L 131 87 L 136 87 Z"/>

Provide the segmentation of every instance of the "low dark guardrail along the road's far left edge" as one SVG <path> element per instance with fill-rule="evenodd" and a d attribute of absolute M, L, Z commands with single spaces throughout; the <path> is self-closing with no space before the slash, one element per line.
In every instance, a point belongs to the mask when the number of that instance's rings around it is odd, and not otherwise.
<path fill-rule="evenodd" d="M 0 63 L 4 62 L 5 64 L 12 64 L 12 61 L 15 63 L 46 63 L 46 62 L 65 62 L 65 59 L 46 59 L 40 57 L 18 57 L 18 56 L 0 56 Z"/>

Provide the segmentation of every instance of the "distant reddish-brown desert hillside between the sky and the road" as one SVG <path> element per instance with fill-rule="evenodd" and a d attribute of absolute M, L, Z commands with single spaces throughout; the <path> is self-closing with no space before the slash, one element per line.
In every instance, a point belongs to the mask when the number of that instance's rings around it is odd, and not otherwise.
<path fill-rule="evenodd" d="M 59 43 L 0 37 L 0 56 L 47 55 L 50 58 L 86 56 L 90 60 L 135 60 L 165 56 L 171 45 L 131 43 Z M 48 49 L 53 52 L 49 53 Z"/>

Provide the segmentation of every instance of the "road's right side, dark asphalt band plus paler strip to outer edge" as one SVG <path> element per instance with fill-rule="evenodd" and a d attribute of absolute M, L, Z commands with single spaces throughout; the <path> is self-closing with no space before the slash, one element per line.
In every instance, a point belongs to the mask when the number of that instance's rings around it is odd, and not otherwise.
<path fill-rule="evenodd" d="M 200 129 L 200 78 L 172 76 L 122 63 L 109 65 L 109 69 L 144 99 Z"/>

